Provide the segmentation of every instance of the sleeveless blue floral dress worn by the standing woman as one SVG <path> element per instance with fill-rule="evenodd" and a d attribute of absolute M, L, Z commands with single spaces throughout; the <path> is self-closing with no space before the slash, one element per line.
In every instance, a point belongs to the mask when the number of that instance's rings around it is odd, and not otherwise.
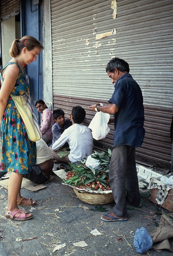
<path fill-rule="evenodd" d="M 20 66 L 15 62 L 9 62 L 3 67 L 0 74 L 1 86 L 4 80 L 3 70 L 11 64 L 16 64 L 19 68 L 19 76 L 11 94 L 23 95 L 28 84 Z M 0 139 L 0 171 L 29 173 L 32 165 L 36 164 L 36 143 L 28 139 L 25 124 L 10 95 L 2 117 Z"/>

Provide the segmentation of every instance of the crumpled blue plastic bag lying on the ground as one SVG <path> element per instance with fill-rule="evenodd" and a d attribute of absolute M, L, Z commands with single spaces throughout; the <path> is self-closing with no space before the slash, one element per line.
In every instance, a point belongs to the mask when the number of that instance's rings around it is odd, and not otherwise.
<path fill-rule="evenodd" d="M 136 229 L 133 245 L 138 253 L 145 253 L 151 249 L 153 241 L 145 227 Z"/>

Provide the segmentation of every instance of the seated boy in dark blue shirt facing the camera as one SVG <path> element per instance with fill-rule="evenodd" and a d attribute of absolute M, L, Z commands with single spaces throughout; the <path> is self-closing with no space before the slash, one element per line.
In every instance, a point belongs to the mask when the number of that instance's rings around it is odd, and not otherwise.
<path fill-rule="evenodd" d="M 60 138 L 66 128 L 69 128 L 72 125 L 72 121 L 69 118 L 65 119 L 64 115 L 65 114 L 62 109 L 56 109 L 53 111 L 53 119 L 55 120 L 55 124 L 52 126 L 52 144 Z M 52 144 L 50 147 L 52 147 Z M 69 144 L 66 143 L 63 145 L 63 148 L 68 146 Z"/>

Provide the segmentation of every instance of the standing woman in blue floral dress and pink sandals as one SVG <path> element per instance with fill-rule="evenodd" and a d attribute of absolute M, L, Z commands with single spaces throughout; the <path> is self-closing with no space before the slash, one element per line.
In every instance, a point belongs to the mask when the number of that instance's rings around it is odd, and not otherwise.
<path fill-rule="evenodd" d="M 23 95 L 28 89 L 24 65 L 36 61 L 43 46 L 32 36 L 15 39 L 9 50 L 13 57 L 1 70 L 0 89 L 0 171 L 11 172 L 8 184 L 6 218 L 28 220 L 33 216 L 18 208 L 35 205 L 35 201 L 20 194 L 22 174 L 31 171 L 36 162 L 36 144 L 28 139 L 25 124 L 11 95 Z"/>

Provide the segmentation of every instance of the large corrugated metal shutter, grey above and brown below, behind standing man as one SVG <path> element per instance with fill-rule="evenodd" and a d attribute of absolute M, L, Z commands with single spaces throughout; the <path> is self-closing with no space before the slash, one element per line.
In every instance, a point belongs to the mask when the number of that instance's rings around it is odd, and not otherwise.
<path fill-rule="evenodd" d="M 113 56 L 125 59 L 144 96 L 146 136 L 138 161 L 170 168 L 173 1 L 117 0 L 117 13 L 111 2 L 115 7 L 115 0 L 51 0 L 54 108 L 106 102 L 113 85 L 105 66 Z"/>

